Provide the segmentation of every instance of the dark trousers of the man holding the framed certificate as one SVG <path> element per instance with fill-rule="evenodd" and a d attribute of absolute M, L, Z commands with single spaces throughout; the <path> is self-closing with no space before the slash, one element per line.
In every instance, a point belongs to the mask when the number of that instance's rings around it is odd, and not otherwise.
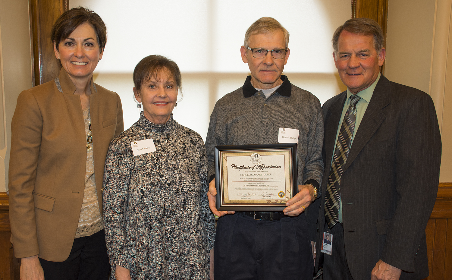
<path fill-rule="evenodd" d="M 240 212 L 218 219 L 215 280 L 312 280 L 306 216 L 260 221 Z"/>

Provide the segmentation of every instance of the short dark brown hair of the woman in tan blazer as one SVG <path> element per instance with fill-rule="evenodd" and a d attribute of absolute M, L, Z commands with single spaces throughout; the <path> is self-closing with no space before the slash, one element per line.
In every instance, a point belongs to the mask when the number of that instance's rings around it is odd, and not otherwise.
<path fill-rule="evenodd" d="M 68 38 L 75 28 L 85 23 L 91 25 L 94 29 L 100 51 L 103 52 L 105 44 L 107 43 L 107 27 L 105 27 L 104 21 L 98 14 L 82 6 L 64 12 L 53 24 L 50 39 L 52 42 L 55 42 L 56 50 L 59 51 L 58 45 L 61 40 Z"/>

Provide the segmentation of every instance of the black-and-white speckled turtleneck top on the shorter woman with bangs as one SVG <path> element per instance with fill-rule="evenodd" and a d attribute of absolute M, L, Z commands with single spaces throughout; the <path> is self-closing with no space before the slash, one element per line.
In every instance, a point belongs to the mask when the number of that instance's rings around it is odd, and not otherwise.
<path fill-rule="evenodd" d="M 131 142 L 152 138 L 155 152 L 134 156 Z M 105 240 L 112 266 L 133 279 L 208 279 L 215 220 L 207 201 L 201 136 L 173 119 L 140 119 L 108 150 Z"/>

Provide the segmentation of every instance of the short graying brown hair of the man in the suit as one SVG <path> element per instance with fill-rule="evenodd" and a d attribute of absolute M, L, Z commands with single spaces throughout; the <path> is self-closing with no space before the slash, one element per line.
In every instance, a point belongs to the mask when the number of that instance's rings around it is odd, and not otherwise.
<path fill-rule="evenodd" d="M 338 52 L 339 35 L 344 30 L 359 35 L 373 36 L 375 50 L 377 53 L 381 52 L 384 37 L 380 25 L 373 19 L 356 18 L 348 19 L 334 31 L 333 39 L 331 40 L 333 42 L 334 54 L 337 54 Z"/>

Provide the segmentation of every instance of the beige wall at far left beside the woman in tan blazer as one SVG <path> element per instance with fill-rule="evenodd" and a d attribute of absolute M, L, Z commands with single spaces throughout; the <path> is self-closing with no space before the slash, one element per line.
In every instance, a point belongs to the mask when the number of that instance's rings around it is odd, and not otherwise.
<path fill-rule="evenodd" d="M 21 90 L 32 87 L 30 26 L 27 0 L 0 0 L 0 192 L 7 191 L 11 119 Z M 7 125 L 5 125 L 7 124 Z M 5 129 L 6 127 L 6 129 Z M 6 134 L 6 146 L 5 146 Z"/>

